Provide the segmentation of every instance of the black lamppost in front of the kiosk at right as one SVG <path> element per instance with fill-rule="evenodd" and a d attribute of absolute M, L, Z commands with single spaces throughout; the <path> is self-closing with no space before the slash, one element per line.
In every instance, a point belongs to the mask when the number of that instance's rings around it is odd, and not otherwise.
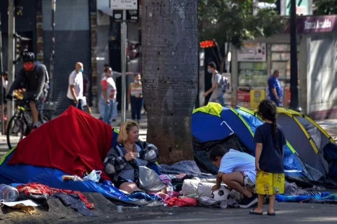
<path fill-rule="evenodd" d="M 291 0 L 290 9 L 290 109 L 302 111 L 299 102 L 299 81 L 297 65 L 297 24 L 296 24 L 296 0 Z"/>

